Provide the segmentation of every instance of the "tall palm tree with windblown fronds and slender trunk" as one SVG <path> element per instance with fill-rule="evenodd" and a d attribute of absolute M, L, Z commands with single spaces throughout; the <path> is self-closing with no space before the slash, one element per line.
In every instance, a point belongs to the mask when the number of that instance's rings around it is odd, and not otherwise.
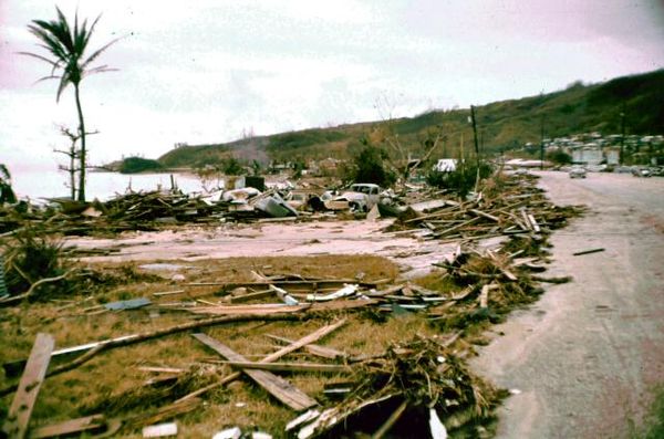
<path fill-rule="evenodd" d="M 76 111 L 79 113 L 79 134 L 81 135 L 81 154 L 79 155 L 81 160 L 79 174 L 79 201 L 85 201 L 86 133 L 85 121 L 83 119 L 83 109 L 81 107 L 81 81 L 87 75 L 114 70 L 108 69 L 106 65 L 91 67 L 91 63 L 118 39 L 105 44 L 101 49 L 93 52 L 90 56 L 85 56 L 90 38 L 92 36 L 94 28 L 101 15 L 94 20 L 89 29 L 87 20 L 83 21 L 82 25 L 79 27 L 79 14 L 76 13 L 74 18 L 74 28 L 72 29 L 62 11 L 58 7 L 55 10 L 58 11 L 56 20 L 33 20 L 33 24 L 28 25 L 30 32 L 32 32 L 32 34 L 34 34 L 41 41 L 41 44 L 39 45 L 45 49 L 53 58 L 49 59 L 31 52 L 21 52 L 21 54 L 37 58 L 38 60 L 42 60 L 51 64 L 51 74 L 40 79 L 38 82 L 44 80 L 60 80 L 58 94 L 55 96 L 56 102 L 60 101 L 60 95 L 68 85 L 72 84 L 74 86 Z"/>

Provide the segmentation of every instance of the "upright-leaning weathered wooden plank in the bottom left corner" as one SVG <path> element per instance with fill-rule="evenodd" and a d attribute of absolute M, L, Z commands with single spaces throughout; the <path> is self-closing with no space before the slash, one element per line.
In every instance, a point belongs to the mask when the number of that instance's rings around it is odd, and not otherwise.
<path fill-rule="evenodd" d="M 39 389 L 46 375 L 53 347 L 55 347 L 55 341 L 51 335 L 44 333 L 37 334 L 34 345 L 25 364 L 25 369 L 19 381 L 19 388 L 2 426 L 2 431 L 10 439 L 22 439 L 28 432 L 30 416 L 32 415 Z"/>

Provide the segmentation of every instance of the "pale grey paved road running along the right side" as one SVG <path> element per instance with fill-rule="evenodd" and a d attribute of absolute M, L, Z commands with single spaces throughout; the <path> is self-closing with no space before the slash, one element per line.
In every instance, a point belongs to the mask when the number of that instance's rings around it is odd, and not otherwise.
<path fill-rule="evenodd" d="M 520 390 L 499 438 L 625 438 L 664 383 L 664 178 L 541 175 L 556 203 L 591 209 L 551 239 L 548 274 L 574 281 L 498 326 L 475 367 Z"/>

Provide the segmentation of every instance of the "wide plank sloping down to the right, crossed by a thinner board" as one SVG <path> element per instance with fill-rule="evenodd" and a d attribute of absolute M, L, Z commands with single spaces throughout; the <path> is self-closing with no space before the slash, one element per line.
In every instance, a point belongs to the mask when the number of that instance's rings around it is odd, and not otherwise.
<path fill-rule="evenodd" d="M 206 346 L 211 347 L 225 358 L 228 358 L 232 362 L 247 362 L 247 358 L 245 358 L 242 355 L 236 353 L 230 347 L 206 334 L 197 333 L 193 335 L 196 339 Z M 270 395 L 293 410 L 301 411 L 318 405 L 315 399 L 294 387 L 288 380 L 280 378 L 270 372 L 256 369 L 243 369 L 242 372 L 263 389 L 266 389 Z"/>

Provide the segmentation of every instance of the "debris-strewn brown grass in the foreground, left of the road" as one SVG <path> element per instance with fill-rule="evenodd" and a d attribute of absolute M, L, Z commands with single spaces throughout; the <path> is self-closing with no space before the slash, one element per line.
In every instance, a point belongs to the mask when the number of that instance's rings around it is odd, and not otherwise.
<path fill-rule="evenodd" d="M 395 281 L 396 268 L 371 257 L 225 260 L 191 263 L 197 270 L 177 289 L 169 280 L 138 278 L 101 293 L 103 303 L 72 296 L 64 312 L 55 311 L 61 302 L 6 309 L 0 330 L 13 335 L 1 342 L 3 363 L 27 357 L 33 330 L 53 334 L 55 352 L 70 352 L 52 355 L 30 429 L 103 415 L 121 422 L 122 436 L 170 420 L 183 437 L 212 437 L 236 426 L 274 437 L 400 436 L 421 426 L 421 436 L 434 429 L 484 435 L 505 393 L 467 372 L 470 343 L 481 343 L 483 328 L 536 300 L 539 282 L 559 281 L 538 274 L 547 262 L 546 238 L 578 211 L 548 205 L 525 179 L 456 206 L 434 200 L 432 210 L 411 219 L 447 208 L 444 220 L 466 224 L 434 237 L 461 239 L 424 279 Z M 539 231 L 510 233 L 510 221 L 525 221 L 521 208 Z M 469 209 L 497 218 L 494 233 L 506 238 L 475 245 L 478 239 L 469 238 L 488 234 L 481 228 L 496 221 L 475 216 L 467 223 Z M 422 228 L 405 221 L 398 227 Z M 139 307 L 125 306 L 146 296 Z M 93 316 L 83 311 L 105 303 L 122 305 Z M 345 324 L 336 326 L 341 318 Z M 184 334 L 200 327 L 205 335 Z M 100 341 L 105 347 L 90 343 Z M 17 378 L 6 377 L 0 393 L 9 407 Z M 61 407 L 58 417 L 53 407 Z"/>

